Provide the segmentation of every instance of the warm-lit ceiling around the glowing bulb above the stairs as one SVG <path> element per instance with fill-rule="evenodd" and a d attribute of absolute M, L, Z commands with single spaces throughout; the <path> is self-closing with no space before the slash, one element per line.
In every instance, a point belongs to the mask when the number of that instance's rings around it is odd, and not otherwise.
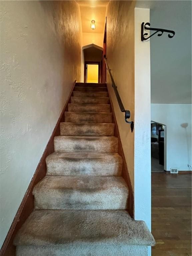
<path fill-rule="evenodd" d="M 109 1 L 77 0 L 76 2 L 80 5 L 82 32 L 103 33 L 105 27 L 106 6 Z M 95 20 L 95 30 L 90 28 L 92 20 Z"/>

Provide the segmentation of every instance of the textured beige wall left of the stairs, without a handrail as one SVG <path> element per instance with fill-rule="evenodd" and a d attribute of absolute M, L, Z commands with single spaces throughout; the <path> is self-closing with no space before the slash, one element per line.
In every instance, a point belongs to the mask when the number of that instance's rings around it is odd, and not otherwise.
<path fill-rule="evenodd" d="M 75 1 L 1 1 L 1 245 L 80 80 Z"/>

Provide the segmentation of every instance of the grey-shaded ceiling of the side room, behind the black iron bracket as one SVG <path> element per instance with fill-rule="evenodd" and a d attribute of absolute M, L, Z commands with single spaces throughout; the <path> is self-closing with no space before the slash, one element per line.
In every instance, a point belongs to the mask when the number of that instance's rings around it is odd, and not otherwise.
<path fill-rule="evenodd" d="M 142 2 L 142 1 L 140 1 Z M 145 1 L 143 1 L 145 2 Z M 151 27 L 175 31 L 151 41 L 151 103 L 191 103 L 191 1 L 149 1 Z"/>

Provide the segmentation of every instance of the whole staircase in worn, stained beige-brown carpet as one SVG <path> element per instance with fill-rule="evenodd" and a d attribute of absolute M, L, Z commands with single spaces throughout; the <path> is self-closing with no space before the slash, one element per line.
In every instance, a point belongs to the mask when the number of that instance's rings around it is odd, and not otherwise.
<path fill-rule="evenodd" d="M 76 83 L 35 209 L 14 239 L 17 256 L 145 256 L 154 245 L 127 211 L 108 96 L 106 84 Z"/>

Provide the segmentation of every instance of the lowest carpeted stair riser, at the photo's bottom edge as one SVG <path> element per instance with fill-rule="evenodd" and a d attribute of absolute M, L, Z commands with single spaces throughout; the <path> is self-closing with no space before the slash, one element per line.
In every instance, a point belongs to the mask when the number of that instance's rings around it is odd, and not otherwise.
<path fill-rule="evenodd" d="M 148 247 L 138 245 L 107 245 L 87 242 L 57 246 L 17 246 L 16 256 L 147 256 Z"/>

